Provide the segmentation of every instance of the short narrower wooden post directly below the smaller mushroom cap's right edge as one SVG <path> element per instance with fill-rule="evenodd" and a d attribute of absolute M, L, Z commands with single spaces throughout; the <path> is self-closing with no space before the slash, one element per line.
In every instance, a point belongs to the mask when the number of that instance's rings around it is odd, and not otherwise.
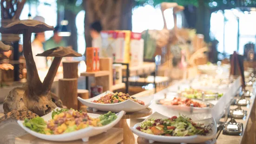
<path fill-rule="evenodd" d="M 64 61 L 63 62 L 63 78 L 73 79 L 78 78 L 79 61 Z"/>

